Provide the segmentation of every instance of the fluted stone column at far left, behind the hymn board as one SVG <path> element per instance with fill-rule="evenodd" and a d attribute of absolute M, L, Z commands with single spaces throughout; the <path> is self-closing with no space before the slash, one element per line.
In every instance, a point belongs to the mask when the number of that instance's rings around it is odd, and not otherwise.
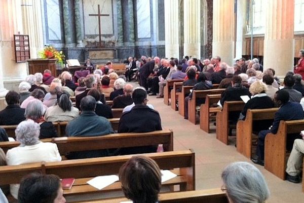
<path fill-rule="evenodd" d="M 27 75 L 26 63 L 15 62 L 14 50 L 14 34 L 23 33 L 21 1 L 2 1 L 0 13 L 0 78 L 5 88 L 18 91 L 19 83 Z M 3 92 L 2 85 L 0 80 L 0 91 Z"/>

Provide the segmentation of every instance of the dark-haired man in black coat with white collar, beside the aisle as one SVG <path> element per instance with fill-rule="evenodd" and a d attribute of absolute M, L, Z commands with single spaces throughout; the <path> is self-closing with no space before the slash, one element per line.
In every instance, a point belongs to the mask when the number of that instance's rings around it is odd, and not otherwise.
<path fill-rule="evenodd" d="M 135 106 L 131 111 L 122 115 L 119 121 L 118 132 L 151 132 L 162 130 L 159 113 L 146 105 L 148 101 L 146 91 L 141 88 L 135 89 L 132 97 Z M 156 150 L 157 146 L 132 147 L 124 148 L 122 154 L 150 153 L 156 152 Z"/>

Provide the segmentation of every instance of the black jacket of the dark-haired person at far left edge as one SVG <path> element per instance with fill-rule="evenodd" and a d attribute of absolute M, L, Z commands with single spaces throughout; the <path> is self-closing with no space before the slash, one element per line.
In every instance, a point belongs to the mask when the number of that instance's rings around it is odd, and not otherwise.
<path fill-rule="evenodd" d="M 19 105 L 9 105 L 0 112 L 0 125 L 18 125 L 25 120 L 24 113 Z"/>

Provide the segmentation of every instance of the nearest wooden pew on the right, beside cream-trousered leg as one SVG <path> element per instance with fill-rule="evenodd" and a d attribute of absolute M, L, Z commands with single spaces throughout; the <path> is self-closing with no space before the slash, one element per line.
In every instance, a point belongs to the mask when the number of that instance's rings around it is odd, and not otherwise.
<path fill-rule="evenodd" d="M 268 133 L 265 138 L 264 167 L 282 180 L 285 180 L 287 133 L 300 133 L 304 120 L 281 121 L 276 134 Z"/>

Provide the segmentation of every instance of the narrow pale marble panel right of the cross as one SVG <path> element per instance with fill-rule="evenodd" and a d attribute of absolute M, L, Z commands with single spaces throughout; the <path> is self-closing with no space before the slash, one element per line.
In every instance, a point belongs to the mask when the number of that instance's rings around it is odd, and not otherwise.
<path fill-rule="evenodd" d="M 150 0 L 137 0 L 137 38 L 151 38 Z"/>

